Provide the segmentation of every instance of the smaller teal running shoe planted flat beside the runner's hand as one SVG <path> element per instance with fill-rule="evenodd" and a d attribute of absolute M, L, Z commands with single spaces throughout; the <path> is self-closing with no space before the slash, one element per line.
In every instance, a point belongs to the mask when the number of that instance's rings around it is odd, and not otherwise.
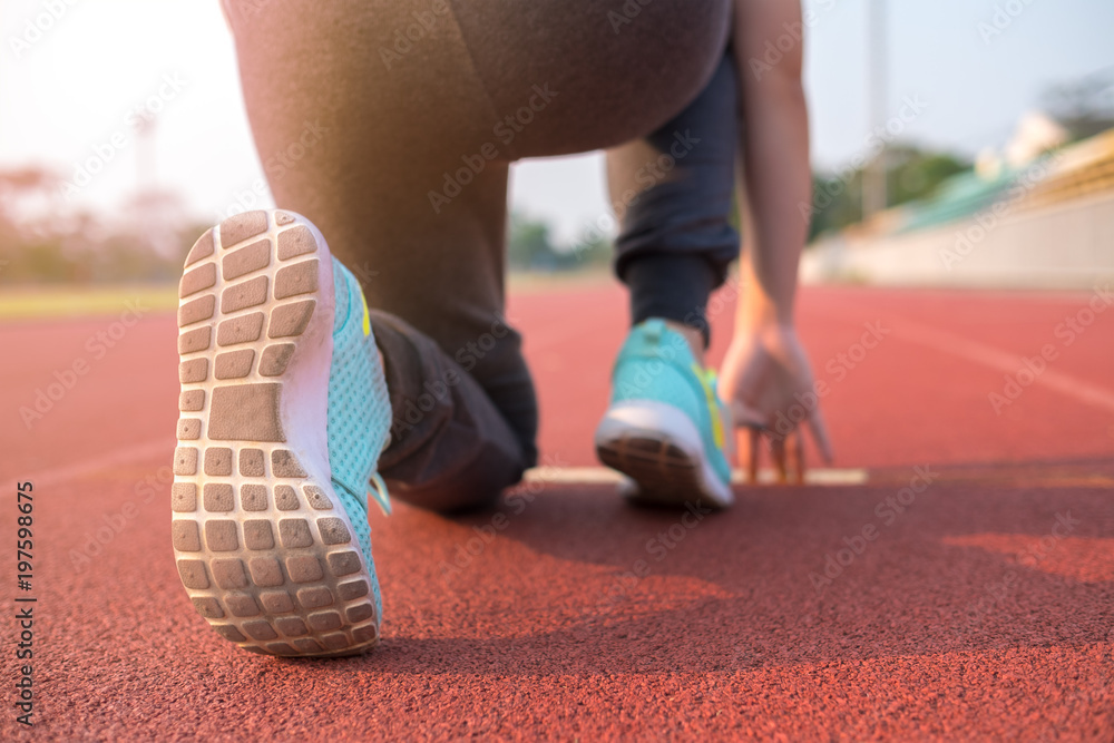
<path fill-rule="evenodd" d="M 662 320 L 636 325 L 612 375 L 612 403 L 596 429 L 596 453 L 626 476 L 633 500 L 713 508 L 734 502 L 731 419 L 681 333 Z"/>

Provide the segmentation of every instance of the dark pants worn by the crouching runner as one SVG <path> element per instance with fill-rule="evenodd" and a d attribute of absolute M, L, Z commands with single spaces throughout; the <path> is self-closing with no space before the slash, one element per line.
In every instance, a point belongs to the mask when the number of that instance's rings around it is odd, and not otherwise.
<path fill-rule="evenodd" d="M 704 326 L 739 247 L 731 7 L 226 1 L 275 201 L 316 223 L 379 311 L 397 495 L 481 502 L 537 459 L 532 382 L 501 320 L 511 162 L 613 148 L 633 320 Z"/>

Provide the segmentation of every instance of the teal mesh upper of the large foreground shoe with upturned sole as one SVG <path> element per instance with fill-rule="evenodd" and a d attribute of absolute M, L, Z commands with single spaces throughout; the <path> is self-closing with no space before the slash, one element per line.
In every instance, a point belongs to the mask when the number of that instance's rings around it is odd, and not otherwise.
<path fill-rule="evenodd" d="M 382 599 L 371 559 L 368 526 L 368 481 L 387 446 L 391 403 L 387 379 L 375 349 L 375 336 L 364 335 L 364 303 L 360 283 L 333 258 L 336 314 L 333 320 L 333 359 L 329 372 L 329 463 L 333 488 L 348 511 L 371 571 L 375 610 Z"/>

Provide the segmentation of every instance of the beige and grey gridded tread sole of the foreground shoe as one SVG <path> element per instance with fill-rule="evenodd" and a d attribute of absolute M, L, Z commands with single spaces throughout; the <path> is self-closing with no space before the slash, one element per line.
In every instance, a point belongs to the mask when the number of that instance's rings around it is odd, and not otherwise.
<path fill-rule="evenodd" d="M 178 575 L 198 614 L 255 653 L 348 655 L 379 638 L 351 522 L 280 416 L 330 260 L 301 219 L 251 212 L 197 241 L 179 285 Z"/>

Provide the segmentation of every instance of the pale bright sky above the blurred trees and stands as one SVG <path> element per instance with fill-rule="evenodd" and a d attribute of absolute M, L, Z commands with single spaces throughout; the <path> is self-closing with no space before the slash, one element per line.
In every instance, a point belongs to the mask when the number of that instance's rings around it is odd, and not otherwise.
<path fill-rule="evenodd" d="M 832 169 L 869 148 L 871 0 L 805 0 L 812 159 Z M 1001 147 L 1048 86 L 1114 67 L 1110 0 L 883 0 L 888 115 L 918 113 L 901 138 L 973 156 Z M 615 0 L 616 6 L 623 0 Z M 50 16 L 47 16 L 50 13 Z M 156 123 L 139 146 L 136 124 Z M 204 147 L 198 147 L 204 143 Z M 144 156 L 144 153 L 148 155 Z M 79 179 L 71 196 L 113 208 L 136 188 L 138 158 L 158 185 L 216 222 L 271 206 L 217 0 L 7 0 L 0 11 L 0 169 L 47 164 Z M 99 160 L 98 173 L 78 167 Z M 569 242 L 607 213 L 598 153 L 515 166 L 511 206 Z"/>

